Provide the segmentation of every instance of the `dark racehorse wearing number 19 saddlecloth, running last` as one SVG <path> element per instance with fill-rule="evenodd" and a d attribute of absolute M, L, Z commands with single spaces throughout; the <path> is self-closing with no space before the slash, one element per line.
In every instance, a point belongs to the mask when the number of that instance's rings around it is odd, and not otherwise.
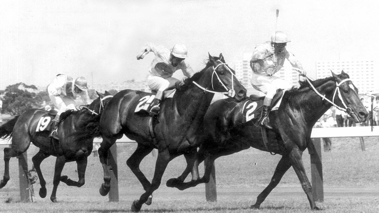
<path fill-rule="evenodd" d="M 0 188 L 3 188 L 9 180 L 9 160 L 25 152 L 30 143 L 39 147 L 39 152 L 33 156 L 34 168 L 39 177 L 41 188 L 39 196 L 46 197 L 46 181 L 42 176 L 41 162 L 53 155 L 56 157 L 55 171 L 53 179 L 53 191 L 50 196 L 52 202 L 56 202 L 56 189 L 60 181 L 69 186 L 83 186 L 85 183 L 85 171 L 87 167 L 87 157 L 92 152 L 92 141 L 100 136 L 99 122 L 104 106 L 111 99 L 111 94 L 97 92 L 99 97 L 90 105 L 83 107 L 79 111 L 66 111 L 70 115 L 61 121 L 58 126 L 58 136 L 60 140 L 49 137 L 50 131 L 37 131 L 49 125 L 50 117 L 48 111 L 42 109 L 31 109 L 9 120 L 0 127 L 0 138 L 12 138 L 10 148 L 4 148 L 5 171 Z M 63 116 L 63 113 L 62 115 Z M 46 119 L 45 119 L 46 118 Z M 50 122 L 49 122 L 50 121 Z M 76 161 L 78 167 L 78 182 L 61 176 L 66 162 Z"/>

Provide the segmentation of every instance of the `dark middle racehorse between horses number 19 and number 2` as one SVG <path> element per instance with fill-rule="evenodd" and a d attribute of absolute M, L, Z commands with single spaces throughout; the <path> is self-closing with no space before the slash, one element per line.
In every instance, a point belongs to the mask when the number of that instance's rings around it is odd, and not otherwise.
<path fill-rule="evenodd" d="M 128 158 L 127 165 L 146 191 L 132 204 L 132 211 L 139 211 L 148 199 L 150 200 L 146 203 L 151 203 L 151 194 L 159 187 L 169 161 L 184 154 L 189 165 L 186 169 L 192 169 L 198 147 L 194 143 L 196 132 L 214 92 L 228 94 L 237 102 L 246 98 L 246 89 L 235 77 L 235 71 L 225 63 L 222 54 L 218 58 L 209 55 L 205 68 L 187 78 L 184 85 L 176 85 L 176 89 L 172 98 L 163 100 L 160 114 L 156 117 L 150 117 L 147 113 L 135 113 L 135 109 L 142 106 L 141 101 L 153 99 L 151 93 L 142 91 L 120 91 L 104 108 L 100 119 L 103 141 L 98 150 L 104 171 L 101 195 L 105 196 L 110 190 L 108 149 L 123 134 L 138 143 L 135 152 Z M 158 149 L 158 157 L 150 183 L 139 170 L 139 164 L 154 148 Z"/>

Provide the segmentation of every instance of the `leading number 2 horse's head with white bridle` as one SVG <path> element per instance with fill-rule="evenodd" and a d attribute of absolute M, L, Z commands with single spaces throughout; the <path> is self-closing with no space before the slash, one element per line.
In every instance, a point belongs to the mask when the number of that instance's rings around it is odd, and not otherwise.
<path fill-rule="evenodd" d="M 346 111 L 356 123 L 366 121 L 368 112 L 360 101 L 358 89 L 349 79 L 349 75 L 343 70 L 339 75 L 334 74 L 334 72 L 332 72 L 332 75 L 337 85 L 332 99 L 333 102 Z"/>

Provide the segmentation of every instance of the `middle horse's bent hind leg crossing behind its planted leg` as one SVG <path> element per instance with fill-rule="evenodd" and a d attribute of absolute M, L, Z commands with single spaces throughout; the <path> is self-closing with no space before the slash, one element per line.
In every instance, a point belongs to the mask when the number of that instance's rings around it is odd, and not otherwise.
<path fill-rule="evenodd" d="M 132 170 L 133 174 L 136 175 L 139 182 L 142 184 L 143 189 L 146 191 L 148 187 L 150 187 L 150 182 L 147 180 L 145 175 L 139 169 L 139 164 L 143 160 L 146 155 L 148 155 L 153 150 L 150 146 L 143 146 L 141 144 L 137 145 L 137 149 L 133 152 L 133 154 L 128 158 L 126 164 Z M 152 202 L 152 196 L 146 201 L 147 205 L 150 205 Z"/>

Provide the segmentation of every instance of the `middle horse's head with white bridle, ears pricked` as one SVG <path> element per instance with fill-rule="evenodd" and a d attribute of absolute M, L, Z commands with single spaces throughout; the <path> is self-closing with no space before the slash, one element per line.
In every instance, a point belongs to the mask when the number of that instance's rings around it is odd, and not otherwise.
<path fill-rule="evenodd" d="M 204 75 L 206 77 L 201 78 L 199 84 L 204 85 L 205 91 L 226 94 L 238 102 L 246 99 L 246 89 L 236 78 L 235 71 L 225 63 L 221 53 L 218 58 L 209 54 Z"/>

